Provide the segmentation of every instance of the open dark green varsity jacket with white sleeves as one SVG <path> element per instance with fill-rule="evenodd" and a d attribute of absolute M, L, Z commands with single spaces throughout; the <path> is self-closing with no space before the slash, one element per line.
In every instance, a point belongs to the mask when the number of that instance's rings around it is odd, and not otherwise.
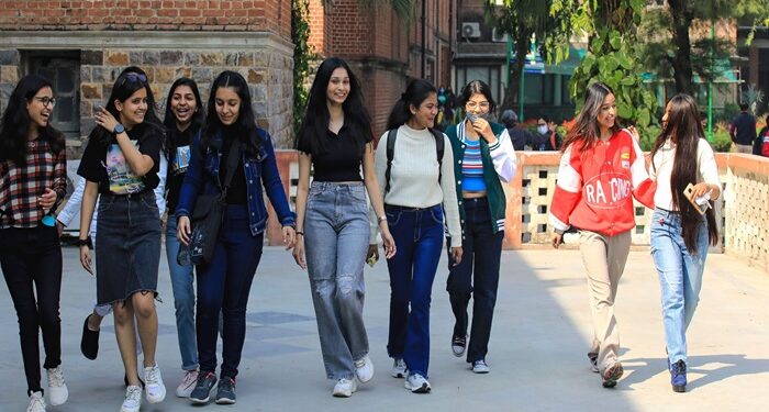
<path fill-rule="evenodd" d="M 483 181 L 486 181 L 486 196 L 489 200 L 489 214 L 491 215 L 491 230 L 493 233 L 504 230 L 505 196 L 500 180 L 508 182 L 515 177 L 517 158 L 510 140 L 508 130 L 499 123 L 489 123 L 491 131 L 497 136 L 497 143 L 489 146 L 483 137 L 480 137 L 481 159 L 483 160 Z M 465 158 L 465 122 L 446 130 L 448 141 L 452 142 L 454 153 L 454 177 L 457 183 L 457 198 L 459 200 L 459 222 L 465 237 L 465 205 L 461 201 L 461 163 Z"/>

